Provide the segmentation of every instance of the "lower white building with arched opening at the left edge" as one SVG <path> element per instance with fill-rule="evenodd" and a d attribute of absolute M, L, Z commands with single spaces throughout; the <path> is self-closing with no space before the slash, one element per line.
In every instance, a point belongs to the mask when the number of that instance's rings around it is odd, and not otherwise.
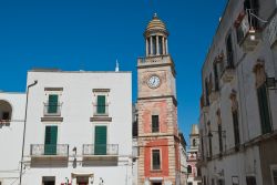
<path fill-rule="evenodd" d="M 0 92 L 0 185 L 18 182 L 25 94 Z"/>

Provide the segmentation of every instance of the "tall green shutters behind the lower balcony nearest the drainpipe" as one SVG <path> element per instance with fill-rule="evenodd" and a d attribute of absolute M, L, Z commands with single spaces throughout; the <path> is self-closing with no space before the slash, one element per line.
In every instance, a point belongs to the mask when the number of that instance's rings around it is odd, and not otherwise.
<path fill-rule="evenodd" d="M 45 155 L 57 154 L 57 137 L 58 137 L 58 126 L 47 126 L 45 141 L 44 141 Z"/>

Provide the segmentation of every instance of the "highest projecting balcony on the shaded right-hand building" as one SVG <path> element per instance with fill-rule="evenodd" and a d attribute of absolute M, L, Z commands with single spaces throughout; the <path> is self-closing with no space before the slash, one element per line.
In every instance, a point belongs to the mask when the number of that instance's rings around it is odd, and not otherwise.
<path fill-rule="evenodd" d="M 256 11 L 247 10 L 247 12 L 244 11 L 239 13 L 235 27 L 238 44 L 242 45 L 246 52 L 254 51 L 261 40 Z"/>

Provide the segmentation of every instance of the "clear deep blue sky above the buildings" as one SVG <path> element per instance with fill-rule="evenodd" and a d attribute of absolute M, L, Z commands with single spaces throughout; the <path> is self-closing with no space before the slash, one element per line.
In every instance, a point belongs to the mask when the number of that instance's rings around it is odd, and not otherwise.
<path fill-rule="evenodd" d="M 153 13 L 170 30 L 179 127 L 198 122 L 201 68 L 226 0 L 0 0 L 0 90 L 24 91 L 33 68 L 133 72 Z"/>

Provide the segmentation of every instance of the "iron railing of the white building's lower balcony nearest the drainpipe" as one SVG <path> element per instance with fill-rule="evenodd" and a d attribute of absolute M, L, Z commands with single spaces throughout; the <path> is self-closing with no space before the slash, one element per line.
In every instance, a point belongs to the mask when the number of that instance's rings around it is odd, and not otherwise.
<path fill-rule="evenodd" d="M 31 156 L 69 156 L 68 144 L 32 144 Z"/>

